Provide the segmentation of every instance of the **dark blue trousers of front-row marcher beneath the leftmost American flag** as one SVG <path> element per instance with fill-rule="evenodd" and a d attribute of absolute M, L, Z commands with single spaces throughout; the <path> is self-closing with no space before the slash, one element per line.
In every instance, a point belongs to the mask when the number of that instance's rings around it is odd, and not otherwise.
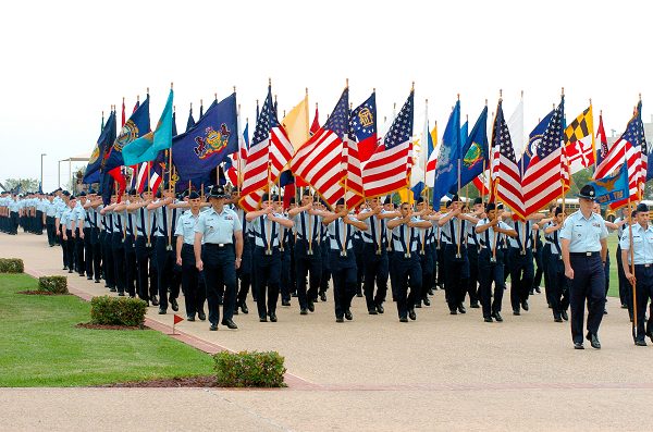
<path fill-rule="evenodd" d="M 281 280 L 281 252 L 274 247 L 271 255 L 266 255 L 266 248 L 255 246 L 252 255 L 252 271 L 256 273 L 254 286 L 256 291 L 256 306 L 259 318 L 276 314 L 279 301 L 279 284 Z"/>

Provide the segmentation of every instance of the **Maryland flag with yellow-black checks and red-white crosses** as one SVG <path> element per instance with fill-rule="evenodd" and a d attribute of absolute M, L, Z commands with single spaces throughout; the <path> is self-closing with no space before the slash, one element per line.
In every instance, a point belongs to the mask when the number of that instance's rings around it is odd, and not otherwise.
<path fill-rule="evenodd" d="M 578 115 L 565 129 L 565 152 L 571 174 L 594 164 L 594 118 L 592 106 Z"/>

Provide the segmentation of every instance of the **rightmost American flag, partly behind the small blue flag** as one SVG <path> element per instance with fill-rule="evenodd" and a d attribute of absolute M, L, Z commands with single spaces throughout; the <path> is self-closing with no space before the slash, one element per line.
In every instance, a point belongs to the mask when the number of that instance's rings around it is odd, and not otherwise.
<path fill-rule="evenodd" d="M 614 171 L 618 170 L 619 166 L 626 161 L 628 166 L 628 186 L 630 197 L 637 197 L 639 194 L 639 187 L 646 181 L 645 170 L 642 171 L 642 138 L 643 138 L 643 124 L 639 116 L 639 113 L 634 113 L 632 119 L 626 126 L 626 132 L 619 139 L 612 145 L 607 156 L 601 162 L 594 171 L 594 178 L 603 178 L 608 176 Z M 644 150 L 646 151 L 646 150 Z M 643 172 L 643 176 L 642 176 Z M 618 208 L 627 203 L 614 202 L 611 208 Z"/>

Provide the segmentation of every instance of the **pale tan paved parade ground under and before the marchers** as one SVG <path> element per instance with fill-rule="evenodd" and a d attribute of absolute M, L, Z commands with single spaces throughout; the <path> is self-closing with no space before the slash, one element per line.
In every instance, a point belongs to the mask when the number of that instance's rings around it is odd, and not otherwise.
<path fill-rule="evenodd" d="M 0 256 L 22 258 L 33 275 L 67 275 L 83 297 L 109 294 L 62 271 L 61 250 L 45 236 L 0 235 Z M 503 323 L 484 323 L 480 309 L 448 314 L 441 291 L 408 323 L 391 301 L 369 316 L 355 298 L 354 321 L 342 324 L 331 294 L 308 316 L 293 298 L 276 323 L 258 322 L 249 297 L 236 331 L 177 325 L 182 340 L 207 351 L 278 350 L 288 388 L 2 388 L 0 430 L 653 430 L 653 344 L 633 345 L 618 299 L 608 299 L 603 348 L 575 350 L 544 294 L 520 317 L 504 297 Z M 172 317 L 150 307 L 148 324 L 170 332 Z"/>

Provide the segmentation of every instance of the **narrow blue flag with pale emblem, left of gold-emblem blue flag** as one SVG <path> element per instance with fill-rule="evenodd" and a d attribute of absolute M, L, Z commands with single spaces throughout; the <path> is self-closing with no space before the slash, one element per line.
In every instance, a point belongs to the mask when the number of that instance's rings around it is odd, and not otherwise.
<path fill-rule="evenodd" d="M 433 185 L 433 208 L 440 208 L 440 200 L 458 181 L 458 160 L 460 159 L 460 101 L 452 111 L 438 155 L 435 184 Z"/>

